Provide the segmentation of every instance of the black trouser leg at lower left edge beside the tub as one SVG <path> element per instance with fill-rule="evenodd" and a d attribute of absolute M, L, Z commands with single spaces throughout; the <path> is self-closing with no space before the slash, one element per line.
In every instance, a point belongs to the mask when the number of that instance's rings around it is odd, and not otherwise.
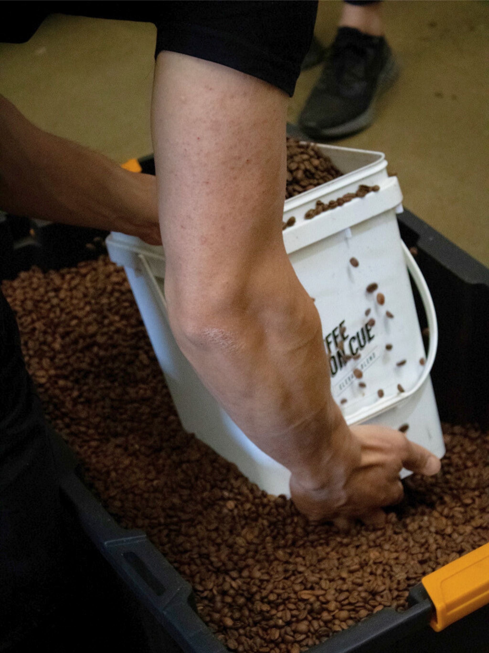
<path fill-rule="evenodd" d="M 55 603 L 61 533 L 46 422 L 0 291 L 0 650 L 36 628 Z"/>

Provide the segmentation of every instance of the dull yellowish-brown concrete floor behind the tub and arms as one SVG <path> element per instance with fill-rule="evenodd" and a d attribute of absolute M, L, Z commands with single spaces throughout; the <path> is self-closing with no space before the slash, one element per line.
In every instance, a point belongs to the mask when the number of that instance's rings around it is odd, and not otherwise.
<path fill-rule="evenodd" d="M 319 3 L 316 35 L 331 42 L 341 3 Z M 384 151 L 404 204 L 489 265 L 489 4 L 385 2 L 385 31 L 402 65 L 362 133 L 337 141 Z M 122 163 L 150 153 L 156 29 L 50 16 L 25 44 L 0 44 L 0 93 L 40 127 Z M 297 119 L 321 67 L 304 72 Z"/>

